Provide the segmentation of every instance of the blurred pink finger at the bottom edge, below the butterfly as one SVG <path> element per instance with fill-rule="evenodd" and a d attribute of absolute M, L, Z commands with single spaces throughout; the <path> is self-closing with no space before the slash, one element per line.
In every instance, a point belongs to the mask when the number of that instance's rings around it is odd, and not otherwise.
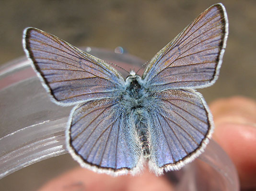
<path fill-rule="evenodd" d="M 50 180 L 39 191 L 173 191 L 163 176 L 144 170 L 138 176 L 113 177 L 76 168 Z"/>

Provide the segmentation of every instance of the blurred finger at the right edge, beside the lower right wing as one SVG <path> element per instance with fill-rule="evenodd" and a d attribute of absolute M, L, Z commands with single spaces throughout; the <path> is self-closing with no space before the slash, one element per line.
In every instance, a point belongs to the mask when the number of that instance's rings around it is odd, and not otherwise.
<path fill-rule="evenodd" d="M 242 188 L 256 188 L 256 102 L 233 97 L 210 105 L 215 122 L 213 138 L 233 160 Z"/>

